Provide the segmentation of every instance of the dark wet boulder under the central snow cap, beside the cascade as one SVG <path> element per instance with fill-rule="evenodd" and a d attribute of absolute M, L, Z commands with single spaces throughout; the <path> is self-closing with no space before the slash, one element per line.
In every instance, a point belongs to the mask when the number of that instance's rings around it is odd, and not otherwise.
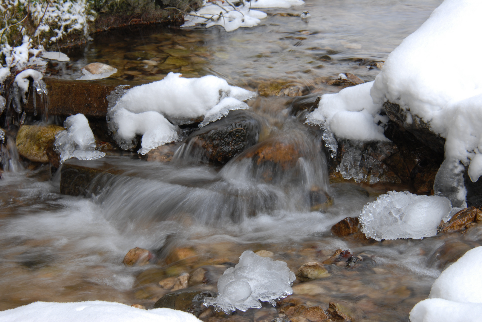
<path fill-rule="evenodd" d="M 186 139 L 192 158 L 225 164 L 258 142 L 264 124 L 249 111 L 231 111 L 221 120 L 193 132 Z"/>

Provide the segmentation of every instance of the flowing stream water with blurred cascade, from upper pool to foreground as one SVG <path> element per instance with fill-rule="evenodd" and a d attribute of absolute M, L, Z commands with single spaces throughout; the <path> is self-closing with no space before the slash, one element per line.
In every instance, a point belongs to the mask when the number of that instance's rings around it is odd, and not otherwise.
<path fill-rule="evenodd" d="M 386 60 L 441 2 L 308 0 L 302 8 L 268 9 L 261 25 L 231 33 L 218 27 L 135 27 L 98 35 L 85 48 L 71 50 L 71 62 L 54 64 L 49 72 L 75 79 L 86 63 L 107 62 L 119 72 L 102 83 L 137 85 L 174 71 L 187 77 L 214 74 L 254 90 L 264 82 L 286 82 L 321 95 L 340 90 L 326 85 L 339 73 L 373 80 L 380 71 L 375 63 Z M 308 20 L 287 14 L 302 10 L 310 11 Z M 263 169 L 241 156 L 220 167 L 180 153 L 168 163 L 110 155 L 88 162 L 120 175 L 104 176 L 88 198 L 71 197 L 59 193 L 58 174 L 52 176 L 48 166 L 24 168 L 8 142 L 9 163 L 0 180 L 0 310 L 38 300 L 96 299 L 150 308 L 170 292 L 159 281 L 192 275 L 200 267 L 204 282 L 187 290 L 215 291 L 217 278 L 244 250 L 271 251 L 296 272 L 341 248 L 363 260 L 348 268 L 345 262 L 329 265 L 331 275 L 323 279 L 295 281 L 292 301 L 325 309 L 337 302 L 354 321 L 408 321 L 445 265 L 482 245 L 480 229 L 382 242 L 332 235 L 333 224 L 358 216 L 386 188 L 330 184 L 321 138 L 290 117 L 289 98 L 260 97 L 249 104 L 270 128 L 265 144 L 287 140 L 303 151 L 276 180 L 266 180 Z M 313 186 L 333 200 L 322 211 L 310 209 Z M 151 250 L 159 262 L 125 266 L 122 259 L 134 247 Z M 179 251 L 189 256 L 173 260 Z M 263 305 L 204 320 L 278 316 Z"/>

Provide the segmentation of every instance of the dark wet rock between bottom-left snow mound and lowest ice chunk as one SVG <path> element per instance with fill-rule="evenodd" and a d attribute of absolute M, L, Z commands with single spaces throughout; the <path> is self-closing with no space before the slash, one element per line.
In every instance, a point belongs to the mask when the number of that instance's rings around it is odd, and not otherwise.
<path fill-rule="evenodd" d="M 169 308 L 173 310 L 181 310 L 199 317 L 202 312 L 206 310 L 206 307 L 202 305 L 204 298 L 217 296 L 217 293 L 211 291 L 169 293 L 156 301 L 154 309 Z"/>

